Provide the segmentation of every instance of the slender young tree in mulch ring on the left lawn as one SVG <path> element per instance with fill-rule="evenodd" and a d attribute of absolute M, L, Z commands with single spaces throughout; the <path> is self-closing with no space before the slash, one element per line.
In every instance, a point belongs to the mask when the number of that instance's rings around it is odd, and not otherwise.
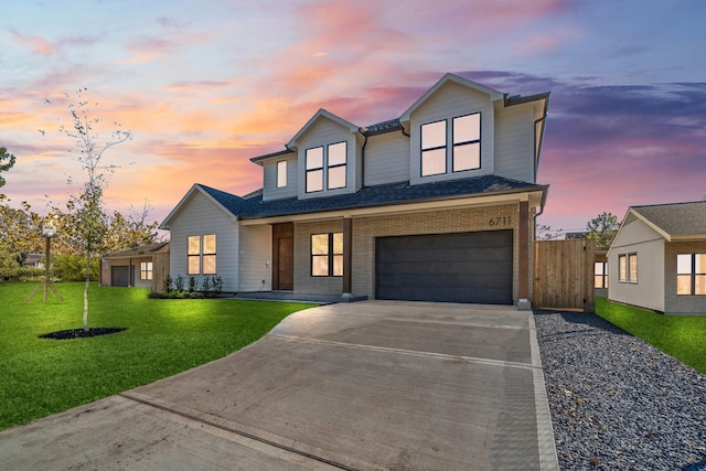
<path fill-rule="evenodd" d="M 84 330 L 88 330 L 88 287 L 90 286 L 90 260 L 103 249 L 106 234 L 103 193 L 108 176 L 116 165 L 106 164 L 104 153 L 114 146 L 132 138 L 130 131 L 114 130 L 103 140 L 97 130 L 100 119 L 90 116 L 92 103 L 87 98 L 86 88 L 77 92 L 77 101 L 68 106 L 72 117 L 72 128 L 60 127 L 60 131 L 74 140 L 79 151 L 78 162 L 85 172 L 83 191 L 72 195 L 69 210 L 76 216 L 77 242 L 83 248 L 86 260 L 86 283 L 84 287 Z M 97 104 L 94 104 L 97 106 Z M 119 126 L 119 125 L 118 125 Z"/>

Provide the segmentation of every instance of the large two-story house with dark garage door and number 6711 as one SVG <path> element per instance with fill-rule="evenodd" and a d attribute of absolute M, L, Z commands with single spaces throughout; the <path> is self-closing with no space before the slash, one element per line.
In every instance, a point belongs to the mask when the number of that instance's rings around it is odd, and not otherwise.
<path fill-rule="evenodd" d="M 447 74 L 373 126 L 320 109 L 285 150 L 250 159 L 263 190 L 189 190 L 160 226 L 171 276 L 217 275 L 226 292 L 528 308 L 548 100 Z"/>

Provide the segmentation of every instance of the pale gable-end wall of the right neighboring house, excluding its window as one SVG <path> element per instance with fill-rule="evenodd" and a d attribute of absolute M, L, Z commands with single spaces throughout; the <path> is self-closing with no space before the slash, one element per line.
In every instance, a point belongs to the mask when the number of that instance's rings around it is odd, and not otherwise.
<path fill-rule="evenodd" d="M 618 257 L 638 254 L 638 282 L 620 282 Z M 641 221 L 621 227 L 608 254 L 608 299 L 664 312 L 664 238 Z"/>

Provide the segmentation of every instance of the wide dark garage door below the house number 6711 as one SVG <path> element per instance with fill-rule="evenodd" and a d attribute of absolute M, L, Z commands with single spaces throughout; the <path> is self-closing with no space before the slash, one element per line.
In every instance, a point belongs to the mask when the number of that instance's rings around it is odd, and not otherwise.
<path fill-rule="evenodd" d="M 512 231 L 375 239 L 377 299 L 512 304 Z"/>

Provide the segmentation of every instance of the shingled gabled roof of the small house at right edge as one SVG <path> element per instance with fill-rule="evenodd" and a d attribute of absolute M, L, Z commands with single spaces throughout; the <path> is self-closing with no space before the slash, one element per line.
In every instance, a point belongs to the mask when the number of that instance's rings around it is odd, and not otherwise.
<path fill-rule="evenodd" d="M 631 206 L 630 215 L 670 242 L 706 238 L 706 201 Z"/>

